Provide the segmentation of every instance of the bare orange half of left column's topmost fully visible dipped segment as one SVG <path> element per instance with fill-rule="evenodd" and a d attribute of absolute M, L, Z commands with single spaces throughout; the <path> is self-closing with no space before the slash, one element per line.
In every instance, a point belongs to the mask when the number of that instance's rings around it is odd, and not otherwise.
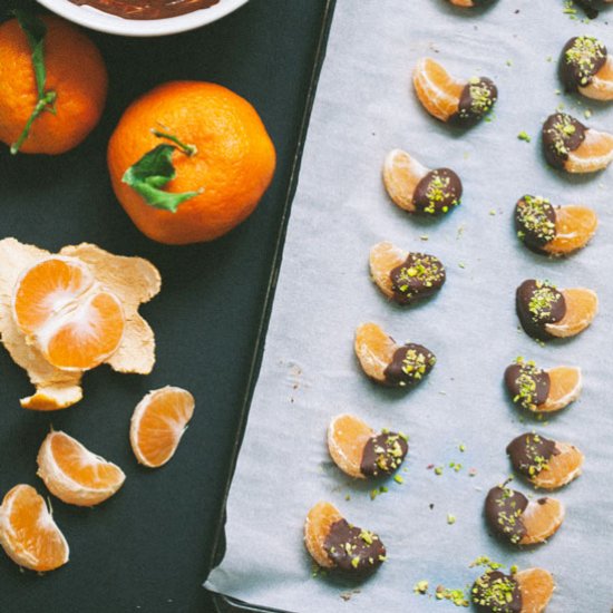
<path fill-rule="evenodd" d="M 447 121 L 458 111 L 465 85 L 430 58 L 419 60 L 413 70 L 413 87 L 419 101 L 441 121 Z"/>

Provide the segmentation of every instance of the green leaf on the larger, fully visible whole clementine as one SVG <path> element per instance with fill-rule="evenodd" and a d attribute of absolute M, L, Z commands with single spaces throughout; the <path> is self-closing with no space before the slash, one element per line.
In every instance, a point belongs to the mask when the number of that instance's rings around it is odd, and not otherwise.
<path fill-rule="evenodd" d="M 176 176 L 173 166 L 175 145 L 157 145 L 146 153 L 136 164 L 130 166 L 121 181 L 138 192 L 149 206 L 176 213 L 178 205 L 197 196 L 197 192 L 173 193 L 162 189 Z"/>

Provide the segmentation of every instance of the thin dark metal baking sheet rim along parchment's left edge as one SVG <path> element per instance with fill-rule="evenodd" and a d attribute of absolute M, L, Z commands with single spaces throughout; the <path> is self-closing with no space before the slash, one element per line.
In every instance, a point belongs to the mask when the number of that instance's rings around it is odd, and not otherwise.
<path fill-rule="evenodd" d="M 309 118 L 311 116 L 311 110 L 313 108 L 314 97 L 317 93 L 317 86 L 319 81 L 319 77 L 321 74 L 321 68 L 323 66 L 323 60 L 325 58 L 325 49 L 328 45 L 328 38 L 330 35 L 330 28 L 332 25 L 332 17 L 334 14 L 334 7 L 335 7 L 337 0 L 327 0 L 325 1 L 325 9 L 323 12 L 323 18 L 321 22 L 321 30 L 319 36 L 319 41 L 315 48 L 315 57 L 313 61 L 313 69 L 311 72 L 311 79 L 309 84 L 309 93 L 308 93 L 308 100 L 306 106 L 304 109 L 304 115 L 302 117 L 302 126 L 300 129 L 300 138 L 298 143 L 298 148 L 293 162 L 292 167 L 292 174 L 290 178 L 290 187 L 288 189 L 288 195 L 285 198 L 285 204 L 283 207 L 283 216 L 281 218 L 281 226 L 279 228 L 279 235 L 276 237 L 276 247 L 274 253 L 274 261 L 273 266 L 271 269 L 271 276 L 269 279 L 269 286 L 266 289 L 266 299 L 265 299 L 265 306 L 264 312 L 262 315 L 262 320 L 260 322 L 260 329 L 257 333 L 257 341 L 256 346 L 253 352 L 253 361 L 250 370 L 250 377 L 247 381 L 247 388 L 245 392 L 245 398 L 243 402 L 243 407 L 241 409 L 240 415 L 240 425 L 239 425 L 239 431 L 231 458 L 231 468 L 228 473 L 228 479 L 225 487 L 224 493 L 224 502 L 222 506 L 222 513 L 218 518 L 217 526 L 215 528 L 215 538 L 214 538 L 214 547 L 213 547 L 213 555 L 211 560 L 208 561 L 208 567 L 213 568 L 217 566 L 222 558 L 223 558 L 223 547 L 224 547 L 224 541 L 225 541 L 225 533 L 224 533 L 224 526 L 225 526 L 225 505 L 227 502 L 227 496 L 230 494 L 230 486 L 232 484 L 232 476 L 234 474 L 234 469 L 236 467 L 236 460 L 239 458 L 239 453 L 241 449 L 241 442 L 243 439 L 243 434 L 245 431 L 246 421 L 249 418 L 249 409 L 251 406 L 251 399 L 253 397 L 253 392 L 255 389 L 255 383 L 257 381 L 257 373 L 260 371 L 260 366 L 262 362 L 262 356 L 264 352 L 264 339 L 266 335 L 266 330 L 270 321 L 271 310 L 272 310 L 272 303 L 274 300 L 274 291 L 276 288 L 276 279 L 279 274 L 279 269 L 281 265 L 281 257 L 283 254 L 283 244 L 285 242 L 285 234 L 288 231 L 288 223 L 290 220 L 290 212 L 291 212 L 291 205 L 293 197 L 295 195 L 295 189 L 298 186 L 298 178 L 300 174 L 300 165 L 302 160 L 302 153 L 304 149 L 304 142 L 306 138 L 306 132 L 309 127 Z M 240 612 L 252 612 L 252 613 L 291 613 L 289 611 L 283 611 L 279 609 L 262 609 L 260 606 L 255 606 L 249 603 L 244 603 L 234 599 L 231 599 L 228 596 L 225 596 L 224 594 L 218 594 L 214 592 L 210 592 L 213 597 L 213 602 L 215 605 L 216 613 L 240 613 Z"/>

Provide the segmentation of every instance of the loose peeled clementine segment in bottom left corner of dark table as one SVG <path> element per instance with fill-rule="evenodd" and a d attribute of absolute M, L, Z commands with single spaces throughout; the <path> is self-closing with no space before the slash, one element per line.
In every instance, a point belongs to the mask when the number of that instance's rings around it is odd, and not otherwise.
<path fill-rule="evenodd" d="M 29 485 L 14 486 L 2 500 L 0 544 L 13 562 L 32 571 L 52 571 L 68 562 L 66 538 Z"/>

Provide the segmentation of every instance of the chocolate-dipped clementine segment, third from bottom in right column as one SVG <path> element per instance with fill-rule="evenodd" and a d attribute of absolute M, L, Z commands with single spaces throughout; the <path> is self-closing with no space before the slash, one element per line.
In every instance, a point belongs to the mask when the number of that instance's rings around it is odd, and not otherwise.
<path fill-rule="evenodd" d="M 514 438 L 507 446 L 507 454 L 515 470 L 544 489 L 557 489 L 578 477 L 584 460 L 574 445 L 535 432 Z"/>

